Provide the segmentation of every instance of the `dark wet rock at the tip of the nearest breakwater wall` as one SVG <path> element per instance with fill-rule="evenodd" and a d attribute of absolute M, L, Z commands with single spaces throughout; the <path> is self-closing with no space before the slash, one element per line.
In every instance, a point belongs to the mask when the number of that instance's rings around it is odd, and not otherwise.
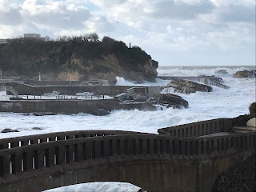
<path fill-rule="evenodd" d="M 166 105 L 167 108 L 173 107 L 174 109 L 187 108 L 188 102 L 176 94 L 155 94 L 154 99 L 158 104 Z"/>

